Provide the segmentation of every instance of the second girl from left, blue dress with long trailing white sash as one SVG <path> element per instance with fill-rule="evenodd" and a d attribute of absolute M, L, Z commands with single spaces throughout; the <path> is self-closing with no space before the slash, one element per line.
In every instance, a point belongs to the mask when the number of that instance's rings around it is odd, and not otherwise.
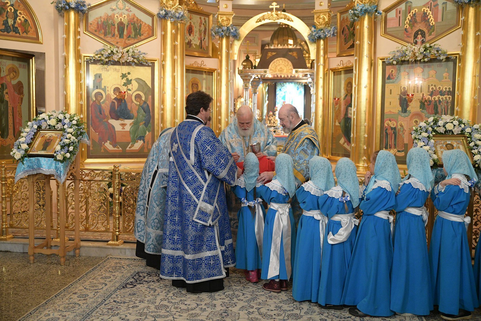
<path fill-rule="evenodd" d="M 276 157 L 276 176 L 256 191 L 269 204 L 262 243 L 262 287 L 272 292 L 287 291 L 296 246 L 296 230 L 291 198 L 296 193 L 294 164 L 288 154 Z"/>

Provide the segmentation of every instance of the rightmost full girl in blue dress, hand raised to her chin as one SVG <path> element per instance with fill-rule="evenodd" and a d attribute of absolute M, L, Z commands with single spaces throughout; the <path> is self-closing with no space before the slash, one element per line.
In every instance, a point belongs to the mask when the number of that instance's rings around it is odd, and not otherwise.
<path fill-rule="evenodd" d="M 443 164 L 447 178 L 431 192 L 438 209 L 429 248 L 434 305 L 439 305 L 445 320 L 470 319 L 470 311 L 479 304 L 466 232 L 471 220 L 464 214 L 476 174 L 460 149 L 444 151 Z"/>

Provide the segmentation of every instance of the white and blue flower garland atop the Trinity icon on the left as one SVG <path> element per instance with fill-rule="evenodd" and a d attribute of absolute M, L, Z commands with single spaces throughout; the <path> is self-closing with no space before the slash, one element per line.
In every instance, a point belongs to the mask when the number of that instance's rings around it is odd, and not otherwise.
<path fill-rule="evenodd" d="M 151 63 L 145 58 L 146 52 L 141 52 L 137 47 L 132 46 L 128 49 L 122 47 L 103 46 L 103 48 L 95 51 L 94 55 L 88 59 L 91 62 L 99 62 L 110 66 L 116 62 L 121 64 L 143 64 L 150 66 Z"/>

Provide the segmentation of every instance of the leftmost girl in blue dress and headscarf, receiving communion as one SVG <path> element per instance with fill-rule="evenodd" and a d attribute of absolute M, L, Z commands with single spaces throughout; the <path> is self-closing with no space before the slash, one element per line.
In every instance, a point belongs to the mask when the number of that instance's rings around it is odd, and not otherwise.
<path fill-rule="evenodd" d="M 246 280 L 250 282 L 259 281 L 266 216 L 262 200 L 257 198 L 256 188 L 261 185 L 257 183 L 258 176 L 259 160 L 249 153 L 245 156 L 244 173 L 232 187 L 232 192 L 241 200 L 241 209 L 237 213 L 236 268 L 247 270 Z"/>

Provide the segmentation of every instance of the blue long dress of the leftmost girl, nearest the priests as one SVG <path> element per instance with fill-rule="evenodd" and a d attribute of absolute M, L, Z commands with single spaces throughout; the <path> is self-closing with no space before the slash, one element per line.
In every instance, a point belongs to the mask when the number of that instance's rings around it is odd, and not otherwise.
<path fill-rule="evenodd" d="M 241 176 L 231 190 L 241 200 L 245 198 L 248 202 L 254 200 L 254 189 L 247 192 L 243 186 L 244 178 Z M 257 198 L 257 195 L 256 195 Z M 263 215 L 266 217 L 264 207 L 262 207 Z M 261 256 L 257 239 L 255 238 L 255 219 L 249 206 L 242 206 L 237 213 L 239 219 L 239 228 L 237 230 L 236 242 L 236 268 L 243 270 L 257 270 L 262 268 Z"/>

